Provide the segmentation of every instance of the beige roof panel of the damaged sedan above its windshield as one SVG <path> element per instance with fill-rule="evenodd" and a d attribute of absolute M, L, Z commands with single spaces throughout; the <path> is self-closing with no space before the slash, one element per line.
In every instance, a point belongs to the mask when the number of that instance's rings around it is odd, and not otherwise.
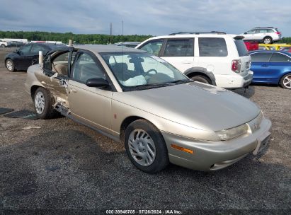
<path fill-rule="evenodd" d="M 147 53 L 143 50 L 136 50 L 134 48 L 117 46 L 117 45 L 74 45 L 76 50 L 84 49 L 91 52 L 142 52 Z"/>

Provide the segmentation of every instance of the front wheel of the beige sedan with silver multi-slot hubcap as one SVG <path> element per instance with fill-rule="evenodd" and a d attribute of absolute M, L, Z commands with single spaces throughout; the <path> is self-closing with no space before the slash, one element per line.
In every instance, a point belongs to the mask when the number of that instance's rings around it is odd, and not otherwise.
<path fill-rule="evenodd" d="M 125 149 L 133 165 L 145 173 L 157 173 L 169 164 L 164 138 L 147 120 L 136 120 L 127 127 Z"/>

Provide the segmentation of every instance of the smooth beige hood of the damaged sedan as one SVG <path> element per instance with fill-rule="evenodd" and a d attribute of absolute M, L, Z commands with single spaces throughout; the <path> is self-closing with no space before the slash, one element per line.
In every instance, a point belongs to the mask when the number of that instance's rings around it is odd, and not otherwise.
<path fill-rule="evenodd" d="M 198 82 L 118 94 L 114 99 L 127 105 L 179 124 L 212 131 L 239 126 L 260 112 L 255 103 L 241 95 Z"/>

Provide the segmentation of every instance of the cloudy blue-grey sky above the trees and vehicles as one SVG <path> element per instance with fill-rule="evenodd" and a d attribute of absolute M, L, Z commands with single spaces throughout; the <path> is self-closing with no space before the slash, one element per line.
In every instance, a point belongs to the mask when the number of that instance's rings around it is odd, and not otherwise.
<path fill-rule="evenodd" d="M 290 0 L 0 0 L 0 30 L 168 35 L 258 26 L 291 37 Z"/>

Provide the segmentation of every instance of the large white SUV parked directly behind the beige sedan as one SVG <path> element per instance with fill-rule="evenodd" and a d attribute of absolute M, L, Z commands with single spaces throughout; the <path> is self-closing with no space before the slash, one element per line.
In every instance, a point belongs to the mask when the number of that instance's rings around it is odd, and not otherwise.
<path fill-rule="evenodd" d="M 161 57 L 194 81 L 243 88 L 253 72 L 242 38 L 220 32 L 175 33 L 149 38 L 136 48 Z"/>

